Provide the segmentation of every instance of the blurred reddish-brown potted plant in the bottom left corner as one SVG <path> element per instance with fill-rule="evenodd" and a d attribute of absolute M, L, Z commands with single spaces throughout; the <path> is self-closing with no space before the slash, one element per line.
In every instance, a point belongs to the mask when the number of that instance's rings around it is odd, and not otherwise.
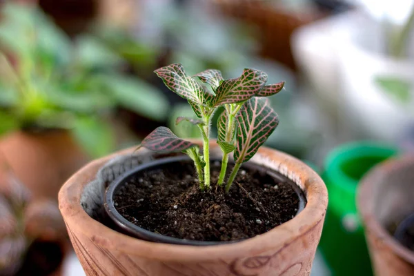
<path fill-rule="evenodd" d="M 56 201 L 33 199 L 7 167 L 0 183 L 0 275 L 61 275 L 69 244 Z"/>

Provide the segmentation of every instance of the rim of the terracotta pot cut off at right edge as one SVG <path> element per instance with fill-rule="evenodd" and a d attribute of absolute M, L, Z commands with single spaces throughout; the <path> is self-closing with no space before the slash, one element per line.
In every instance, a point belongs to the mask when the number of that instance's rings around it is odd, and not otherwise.
<path fill-rule="evenodd" d="M 407 164 L 414 164 L 413 156 L 388 159 L 373 168 L 371 172 L 368 172 L 368 175 L 362 179 L 357 190 L 357 209 L 362 216 L 366 231 L 373 233 L 373 235 L 386 244 L 386 246 L 389 246 L 399 257 L 414 264 L 414 253 L 400 244 L 400 242 L 382 227 L 380 222 L 374 217 L 371 208 L 373 206 L 371 197 L 373 186 L 375 186 L 380 179 L 383 179 L 384 175 L 388 174 L 388 172 L 400 170 L 400 168 L 403 168 Z"/>

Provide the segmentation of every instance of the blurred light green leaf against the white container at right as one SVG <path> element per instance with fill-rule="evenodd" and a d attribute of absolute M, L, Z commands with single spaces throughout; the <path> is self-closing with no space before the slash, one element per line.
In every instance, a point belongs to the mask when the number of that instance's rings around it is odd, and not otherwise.
<path fill-rule="evenodd" d="M 386 92 L 400 103 L 407 103 L 411 98 L 411 83 L 397 77 L 376 77 L 375 82 Z"/>

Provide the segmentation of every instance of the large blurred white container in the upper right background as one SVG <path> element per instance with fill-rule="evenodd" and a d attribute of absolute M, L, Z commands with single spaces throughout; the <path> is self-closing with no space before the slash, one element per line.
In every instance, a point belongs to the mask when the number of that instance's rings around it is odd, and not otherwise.
<path fill-rule="evenodd" d="M 380 22 L 352 11 L 301 28 L 293 36 L 299 68 L 318 101 L 337 115 L 338 127 L 351 134 L 348 139 L 394 141 L 413 119 L 374 81 L 377 75 L 414 79 L 412 59 L 383 54 L 384 35 Z"/>

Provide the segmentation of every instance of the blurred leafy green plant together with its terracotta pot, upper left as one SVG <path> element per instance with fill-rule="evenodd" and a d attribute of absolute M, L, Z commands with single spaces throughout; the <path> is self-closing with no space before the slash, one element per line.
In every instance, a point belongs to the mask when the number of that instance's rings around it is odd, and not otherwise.
<path fill-rule="evenodd" d="M 119 75 L 122 59 L 92 37 L 72 43 L 34 7 L 9 3 L 1 12 L 0 159 L 34 197 L 56 198 L 89 156 L 113 150 L 108 121 L 117 106 L 166 116 L 161 92 Z"/>

